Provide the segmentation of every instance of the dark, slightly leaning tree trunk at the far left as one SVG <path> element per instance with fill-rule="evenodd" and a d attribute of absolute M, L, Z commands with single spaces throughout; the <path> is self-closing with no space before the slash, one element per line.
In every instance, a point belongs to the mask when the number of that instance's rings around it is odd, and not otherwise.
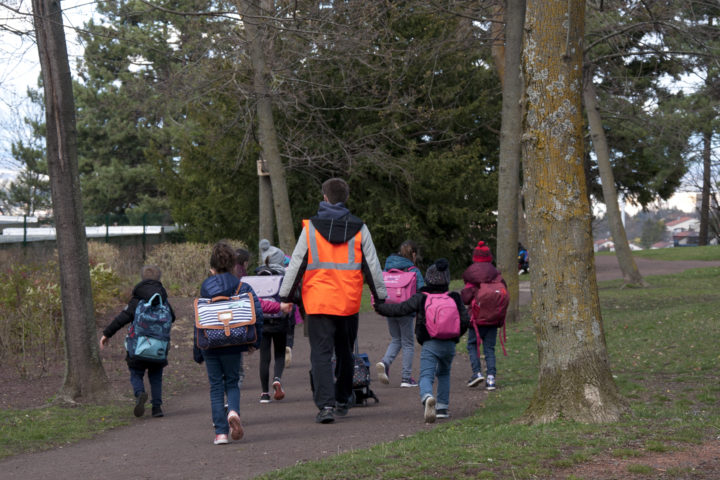
<path fill-rule="evenodd" d="M 59 1 L 33 0 L 45 88 L 47 163 L 60 259 L 65 332 L 63 399 L 101 401 L 109 382 L 98 352 L 88 252 L 80 199 L 75 101 Z"/>

